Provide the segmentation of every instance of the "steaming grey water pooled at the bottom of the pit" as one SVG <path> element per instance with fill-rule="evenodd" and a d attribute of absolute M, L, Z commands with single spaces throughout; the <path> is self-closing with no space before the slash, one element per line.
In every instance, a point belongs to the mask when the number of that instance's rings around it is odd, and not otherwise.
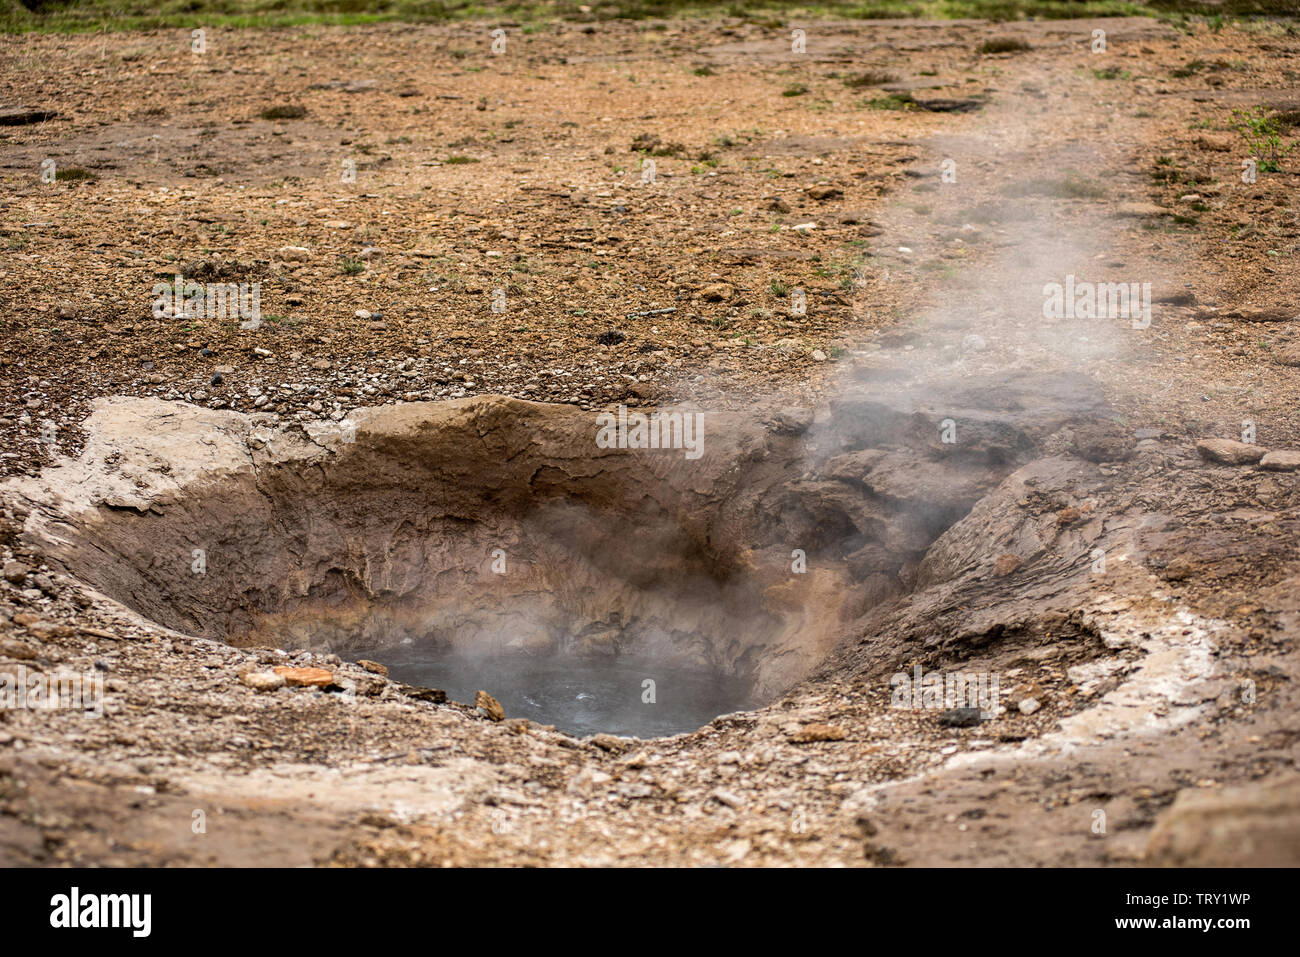
<path fill-rule="evenodd" d="M 428 645 L 398 645 L 373 657 L 398 681 L 441 688 L 473 702 L 482 689 L 507 718 L 554 724 L 575 735 L 660 737 L 703 727 L 720 714 L 753 707 L 750 685 L 737 677 L 636 658 L 467 657 Z M 644 702 L 645 681 L 654 702 Z"/>

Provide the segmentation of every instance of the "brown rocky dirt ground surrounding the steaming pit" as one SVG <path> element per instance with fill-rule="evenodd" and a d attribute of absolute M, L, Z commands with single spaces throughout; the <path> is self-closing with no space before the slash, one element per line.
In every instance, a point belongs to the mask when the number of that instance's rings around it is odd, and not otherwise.
<path fill-rule="evenodd" d="M 1008 36 L 1027 48 L 978 49 Z M 1296 160 L 1243 182 L 1234 120 L 1264 107 L 1290 142 L 1300 39 L 1110 20 L 818 22 L 806 53 L 742 22 L 490 43 L 0 38 L 0 103 L 52 114 L 0 127 L 0 476 L 79 454 L 109 395 L 285 426 L 494 394 L 814 408 L 1010 371 L 1089 376 L 1121 447 L 1044 449 L 1078 467 L 1008 478 L 811 677 L 654 741 L 384 681 L 347 709 L 256 693 L 250 663 L 374 676 L 87 596 L 6 498 L 0 667 L 98 668 L 110 707 L 0 711 L 0 861 L 1300 862 L 1300 459 L 1196 447 L 1249 423 L 1300 449 Z M 51 159 L 88 176 L 44 183 Z M 1067 273 L 1149 282 L 1149 328 L 1044 320 Z M 155 317 L 177 274 L 260 282 L 260 326 Z M 1046 544 L 989 572 L 1026 529 Z M 1066 540 L 1123 558 L 1089 579 L 1053 558 Z M 972 728 L 890 707 L 919 663 L 1008 675 L 1013 707 Z M 1261 802 L 1282 840 L 1206 836 Z"/>

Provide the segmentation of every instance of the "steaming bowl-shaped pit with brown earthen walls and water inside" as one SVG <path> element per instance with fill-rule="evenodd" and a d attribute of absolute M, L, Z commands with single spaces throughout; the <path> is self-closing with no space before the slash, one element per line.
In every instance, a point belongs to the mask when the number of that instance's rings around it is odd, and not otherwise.
<path fill-rule="evenodd" d="M 79 460 L 10 492 L 51 559 L 178 632 L 374 659 L 572 733 L 670 735 L 809 675 L 1101 411 L 1060 377 L 965 390 L 707 415 L 696 456 L 602 447 L 594 415 L 504 398 L 281 430 L 110 399 Z"/>

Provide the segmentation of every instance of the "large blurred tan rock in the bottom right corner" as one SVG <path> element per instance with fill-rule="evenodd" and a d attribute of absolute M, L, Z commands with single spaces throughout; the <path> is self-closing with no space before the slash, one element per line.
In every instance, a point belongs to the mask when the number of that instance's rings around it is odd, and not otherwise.
<path fill-rule="evenodd" d="M 1222 791 L 1184 789 L 1156 819 L 1147 863 L 1176 867 L 1300 865 L 1300 775 Z"/>

